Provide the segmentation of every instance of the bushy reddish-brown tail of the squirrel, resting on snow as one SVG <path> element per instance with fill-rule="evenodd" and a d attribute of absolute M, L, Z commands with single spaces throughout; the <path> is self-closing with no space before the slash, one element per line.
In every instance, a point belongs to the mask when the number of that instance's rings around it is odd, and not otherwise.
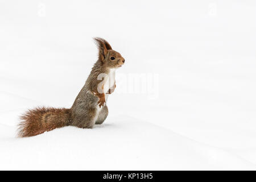
<path fill-rule="evenodd" d="M 51 131 L 58 127 L 68 126 L 71 122 L 70 109 L 37 107 L 24 113 L 19 123 L 18 137 L 31 137 Z"/>

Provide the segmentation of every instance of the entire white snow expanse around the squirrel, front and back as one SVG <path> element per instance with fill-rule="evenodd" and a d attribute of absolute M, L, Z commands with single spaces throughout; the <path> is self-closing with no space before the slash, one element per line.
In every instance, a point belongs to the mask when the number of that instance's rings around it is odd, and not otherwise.
<path fill-rule="evenodd" d="M 0 169 L 254 170 L 255 9 L 1 1 Z M 95 36 L 126 60 L 106 121 L 16 138 L 26 109 L 73 104 L 97 59 Z"/>

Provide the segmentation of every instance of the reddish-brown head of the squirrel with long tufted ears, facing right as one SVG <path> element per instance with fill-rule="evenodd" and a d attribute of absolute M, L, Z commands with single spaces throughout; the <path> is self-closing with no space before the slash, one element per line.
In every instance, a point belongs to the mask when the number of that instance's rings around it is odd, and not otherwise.
<path fill-rule="evenodd" d="M 94 38 L 98 47 L 98 59 L 108 68 L 120 68 L 125 63 L 125 59 L 102 38 Z"/>

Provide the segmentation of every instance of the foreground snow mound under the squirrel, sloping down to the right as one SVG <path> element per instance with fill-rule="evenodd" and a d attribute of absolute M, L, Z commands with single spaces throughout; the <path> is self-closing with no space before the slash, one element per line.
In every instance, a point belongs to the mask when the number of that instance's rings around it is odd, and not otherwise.
<path fill-rule="evenodd" d="M 94 129 L 69 126 L 15 139 L 13 127 L 1 125 L 1 133 L 0 169 L 255 169 L 228 151 L 127 115 Z"/>

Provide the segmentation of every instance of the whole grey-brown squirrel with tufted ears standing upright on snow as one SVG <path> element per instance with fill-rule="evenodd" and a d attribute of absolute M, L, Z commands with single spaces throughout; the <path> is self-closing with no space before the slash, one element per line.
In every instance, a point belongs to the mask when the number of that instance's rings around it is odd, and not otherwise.
<path fill-rule="evenodd" d="M 94 38 L 98 60 L 70 109 L 36 107 L 20 116 L 18 137 L 32 137 L 64 126 L 92 129 L 108 117 L 106 102 L 115 89 L 115 70 L 125 59 L 102 38 Z"/>

